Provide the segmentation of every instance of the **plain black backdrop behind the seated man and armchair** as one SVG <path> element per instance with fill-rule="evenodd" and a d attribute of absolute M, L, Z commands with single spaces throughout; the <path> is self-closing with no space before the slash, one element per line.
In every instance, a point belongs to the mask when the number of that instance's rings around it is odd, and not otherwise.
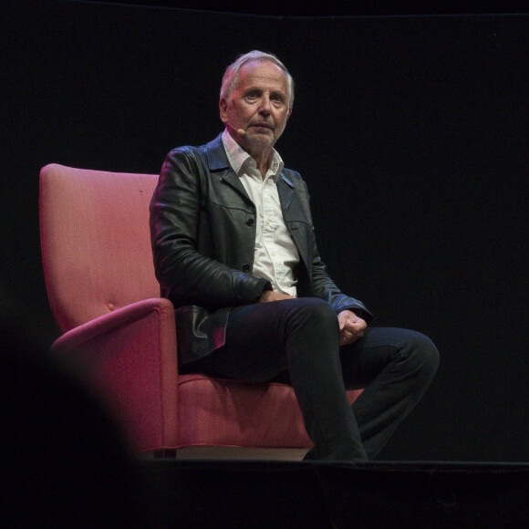
<path fill-rule="evenodd" d="M 529 16 L 1 9 L 0 301 L 38 344 L 59 335 L 40 168 L 159 172 L 168 150 L 222 130 L 224 67 L 272 51 L 296 79 L 277 149 L 306 179 L 330 274 L 373 325 L 420 330 L 441 351 L 380 458 L 528 461 Z M 356 13 L 377 14 L 397 15 Z"/>

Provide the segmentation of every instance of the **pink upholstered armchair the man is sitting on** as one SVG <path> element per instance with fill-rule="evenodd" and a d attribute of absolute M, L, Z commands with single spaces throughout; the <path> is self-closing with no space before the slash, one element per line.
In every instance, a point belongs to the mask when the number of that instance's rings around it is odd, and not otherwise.
<path fill-rule="evenodd" d="M 312 443 L 289 386 L 178 374 L 174 308 L 160 297 L 150 253 L 157 181 L 56 164 L 41 171 L 47 293 L 64 333 L 52 352 L 82 369 L 131 453 L 300 459 Z"/>

